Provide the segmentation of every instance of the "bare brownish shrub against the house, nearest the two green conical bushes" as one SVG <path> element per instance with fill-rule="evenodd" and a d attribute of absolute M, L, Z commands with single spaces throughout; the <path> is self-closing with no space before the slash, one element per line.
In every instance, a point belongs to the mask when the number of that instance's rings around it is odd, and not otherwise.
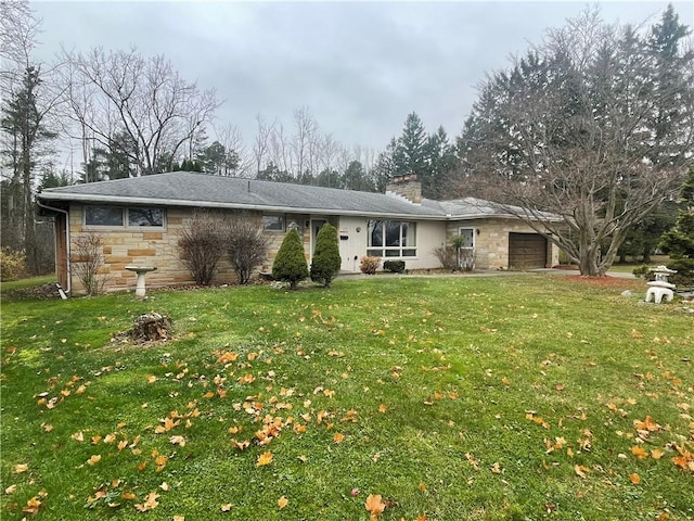
<path fill-rule="evenodd" d="M 247 284 L 253 270 L 261 265 L 268 255 L 270 240 L 259 223 L 240 217 L 229 225 L 229 256 L 240 284 Z"/>

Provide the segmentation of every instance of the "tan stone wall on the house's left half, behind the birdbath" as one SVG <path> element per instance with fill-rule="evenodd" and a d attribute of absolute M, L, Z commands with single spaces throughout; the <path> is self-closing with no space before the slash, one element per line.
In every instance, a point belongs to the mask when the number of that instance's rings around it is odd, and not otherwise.
<path fill-rule="evenodd" d="M 232 212 L 229 212 L 231 215 Z M 157 270 L 147 274 L 147 288 L 162 288 L 167 285 L 191 284 L 193 279 L 185 265 L 181 262 L 181 253 L 178 250 L 178 240 L 181 237 L 184 225 L 193 217 L 193 208 L 169 207 L 167 208 L 166 226 L 162 230 L 149 229 L 140 231 L 138 228 L 121 227 L 86 227 L 83 225 L 83 212 L 81 205 L 72 205 L 69 211 L 69 239 L 70 264 L 78 260 L 76 253 L 76 240 L 82 233 L 94 231 L 104 241 L 104 266 L 100 271 L 105 277 L 104 291 L 120 291 L 134 289 L 136 274 L 127 270 L 127 265 L 156 266 Z M 260 217 L 260 213 L 253 214 Z M 297 220 L 303 224 L 308 217 L 287 216 L 287 223 Z M 272 262 L 277 255 L 284 232 L 269 232 L 271 245 L 268 259 L 260 268 L 262 271 L 272 270 Z M 310 244 L 310 230 L 304 232 L 305 250 Z M 222 258 L 218 265 L 218 272 L 214 284 L 234 283 L 234 274 L 228 258 Z M 72 270 L 72 292 L 83 293 L 85 288 L 74 269 Z"/>

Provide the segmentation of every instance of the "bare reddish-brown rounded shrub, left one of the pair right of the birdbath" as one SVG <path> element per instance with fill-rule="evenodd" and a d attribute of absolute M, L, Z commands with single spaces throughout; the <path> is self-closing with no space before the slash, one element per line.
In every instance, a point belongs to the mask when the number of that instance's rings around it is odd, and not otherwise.
<path fill-rule="evenodd" d="M 195 211 L 178 241 L 181 262 L 201 285 L 209 285 L 227 251 L 227 229 L 219 214 Z"/>

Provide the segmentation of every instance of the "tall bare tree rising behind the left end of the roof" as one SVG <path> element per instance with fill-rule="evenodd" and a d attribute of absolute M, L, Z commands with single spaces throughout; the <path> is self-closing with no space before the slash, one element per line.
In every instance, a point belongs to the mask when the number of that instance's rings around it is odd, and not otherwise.
<path fill-rule="evenodd" d="M 66 115 L 80 128 L 79 138 L 111 148 L 115 136 L 125 132 L 134 147 L 123 152 L 141 175 L 170 169 L 220 105 L 214 90 L 201 91 L 184 80 L 163 55 L 145 59 L 134 48 L 92 49 L 65 52 L 64 59 L 69 65 Z"/>

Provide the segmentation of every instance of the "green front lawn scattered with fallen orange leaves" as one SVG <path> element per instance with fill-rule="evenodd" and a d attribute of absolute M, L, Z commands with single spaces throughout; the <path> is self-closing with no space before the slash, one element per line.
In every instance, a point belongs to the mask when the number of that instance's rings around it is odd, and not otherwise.
<path fill-rule="evenodd" d="M 616 284 L 3 298 L 0 516 L 139 519 L 156 492 L 149 519 L 367 520 L 370 494 L 383 520 L 694 519 L 694 315 Z M 171 341 L 111 340 L 150 310 Z"/>

